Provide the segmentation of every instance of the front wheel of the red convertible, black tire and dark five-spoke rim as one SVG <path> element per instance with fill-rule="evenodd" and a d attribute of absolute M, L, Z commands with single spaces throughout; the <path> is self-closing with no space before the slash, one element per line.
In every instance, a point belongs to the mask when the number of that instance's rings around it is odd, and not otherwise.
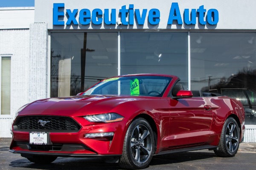
<path fill-rule="evenodd" d="M 148 166 L 154 153 L 153 130 L 144 118 L 135 119 L 125 134 L 119 166 L 142 169 Z"/>

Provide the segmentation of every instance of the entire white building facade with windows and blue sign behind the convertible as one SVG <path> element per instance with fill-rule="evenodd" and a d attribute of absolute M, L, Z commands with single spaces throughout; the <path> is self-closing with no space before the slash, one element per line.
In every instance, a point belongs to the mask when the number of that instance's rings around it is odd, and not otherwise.
<path fill-rule="evenodd" d="M 10 84 L 1 93 L 0 137 L 11 137 L 23 104 L 76 95 L 115 75 L 160 73 L 179 76 L 187 89 L 240 99 L 244 141 L 256 142 L 255 7 L 251 0 L 35 0 L 35 9 L 0 8 L 2 90 Z"/>

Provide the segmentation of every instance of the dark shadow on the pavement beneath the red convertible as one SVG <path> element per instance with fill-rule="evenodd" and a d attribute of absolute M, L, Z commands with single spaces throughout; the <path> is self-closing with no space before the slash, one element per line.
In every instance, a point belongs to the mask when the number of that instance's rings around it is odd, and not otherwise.
<path fill-rule="evenodd" d="M 154 156 L 150 166 L 161 164 L 175 164 L 186 161 L 201 160 L 206 158 L 216 157 L 214 153 L 209 152 L 188 152 L 188 153 L 173 153 L 168 155 Z M 11 167 L 21 167 L 40 170 L 119 170 L 118 164 L 104 163 L 102 158 L 64 158 L 59 157 L 51 164 L 34 164 L 26 158 L 12 161 L 9 164 Z"/>

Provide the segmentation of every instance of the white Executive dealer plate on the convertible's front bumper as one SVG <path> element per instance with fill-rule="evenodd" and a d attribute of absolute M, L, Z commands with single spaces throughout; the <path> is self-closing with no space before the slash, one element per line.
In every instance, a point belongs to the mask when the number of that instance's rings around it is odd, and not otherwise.
<path fill-rule="evenodd" d="M 46 132 L 30 132 L 29 144 L 48 144 L 48 133 Z"/>

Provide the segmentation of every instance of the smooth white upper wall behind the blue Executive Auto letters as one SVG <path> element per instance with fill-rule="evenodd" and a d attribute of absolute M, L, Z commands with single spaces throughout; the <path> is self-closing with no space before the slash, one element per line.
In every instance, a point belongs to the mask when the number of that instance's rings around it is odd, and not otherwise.
<path fill-rule="evenodd" d="M 180 8 L 181 16 L 183 16 L 184 9 L 198 9 L 204 5 L 204 9 L 217 9 L 219 13 L 219 22 L 215 26 L 202 26 L 196 25 L 168 25 L 168 18 L 170 7 L 173 2 L 177 2 Z M 119 9 L 126 5 L 128 8 L 129 4 L 134 4 L 134 9 L 159 9 L 160 10 L 160 24 L 159 26 L 150 26 L 146 22 L 144 26 L 107 26 L 107 25 L 79 25 L 75 29 L 256 29 L 256 22 L 252 18 L 256 16 L 256 1 L 254 0 L 35 0 L 35 22 L 37 23 L 48 23 L 48 29 L 73 29 L 65 26 L 53 26 L 52 24 L 52 9 L 53 3 L 64 3 L 65 4 L 65 17 L 64 21 L 67 22 L 66 9 L 89 9 L 92 12 L 93 9 L 116 9 L 116 18 L 118 17 Z M 76 16 L 76 20 L 79 18 L 79 13 Z M 183 22 L 184 23 L 184 22 Z"/>

